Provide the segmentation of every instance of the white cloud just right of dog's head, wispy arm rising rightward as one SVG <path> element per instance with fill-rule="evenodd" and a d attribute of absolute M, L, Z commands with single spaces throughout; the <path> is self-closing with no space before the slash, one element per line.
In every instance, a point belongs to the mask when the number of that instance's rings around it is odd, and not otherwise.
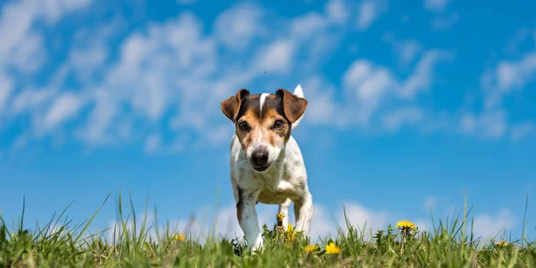
<path fill-rule="evenodd" d="M 313 96 L 307 97 L 312 97 L 313 102 L 318 104 L 313 105 L 312 102 L 307 113 L 314 114 L 314 117 L 306 115 L 307 120 L 341 128 L 359 126 L 373 130 L 382 127 L 389 131 L 398 130 L 407 123 L 420 122 L 424 112 L 418 105 L 407 107 L 402 104 L 416 102 L 419 92 L 431 88 L 435 66 L 453 57 L 447 51 L 427 50 L 406 80 L 398 79 L 384 66 L 357 59 L 342 76 L 342 101 L 337 101 L 333 96 L 335 90 L 330 89 L 329 83 L 322 85 L 326 83 L 318 77 L 310 80 Z M 305 90 L 307 92 L 309 89 Z M 379 115 L 378 121 L 375 120 L 376 115 Z"/>

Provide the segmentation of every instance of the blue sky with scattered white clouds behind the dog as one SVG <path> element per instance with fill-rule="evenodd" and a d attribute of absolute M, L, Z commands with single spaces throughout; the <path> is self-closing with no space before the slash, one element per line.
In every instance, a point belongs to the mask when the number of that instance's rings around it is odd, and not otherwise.
<path fill-rule="evenodd" d="M 122 1 L 121 1 L 122 2 Z M 348 220 L 430 230 L 472 207 L 483 239 L 536 237 L 532 1 L 0 2 L 0 213 L 90 230 L 137 216 L 241 235 L 230 188 L 239 88 L 302 86 L 293 136 L 311 235 Z M 147 201 L 148 198 L 148 201 Z M 528 209 L 525 214 L 525 203 Z M 148 203 L 147 203 L 148 202 Z M 154 208 L 157 213 L 154 213 Z M 275 222 L 275 205 L 257 205 Z M 432 213 L 432 214 L 431 214 Z M 292 217 L 291 217 L 292 218 Z M 212 223 L 208 223 L 212 222 Z M 214 223 L 214 224 L 213 224 Z M 192 231 L 194 233 L 194 231 Z"/>

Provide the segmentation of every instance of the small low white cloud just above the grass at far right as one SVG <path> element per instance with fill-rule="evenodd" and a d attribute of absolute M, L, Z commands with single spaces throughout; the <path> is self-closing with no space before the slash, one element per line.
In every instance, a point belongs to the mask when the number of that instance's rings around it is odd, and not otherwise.
<path fill-rule="evenodd" d="M 482 239 L 498 239 L 504 230 L 514 227 L 515 216 L 503 208 L 497 214 L 477 214 L 474 216 L 473 232 Z M 497 237 L 496 237 L 497 236 Z"/>

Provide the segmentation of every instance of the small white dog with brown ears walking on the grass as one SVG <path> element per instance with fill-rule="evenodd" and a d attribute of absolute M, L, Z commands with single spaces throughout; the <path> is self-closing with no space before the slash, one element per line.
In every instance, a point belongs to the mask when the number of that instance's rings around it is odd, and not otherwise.
<path fill-rule="evenodd" d="M 222 113 L 235 125 L 230 182 L 237 218 L 247 246 L 254 251 L 264 244 L 255 210 L 259 202 L 279 205 L 283 226 L 288 224 L 289 205 L 294 202 L 295 230 L 308 233 L 313 196 L 301 151 L 291 135 L 307 103 L 299 84 L 294 93 L 280 88 L 275 94 L 251 95 L 242 88 L 221 103 Z"/>

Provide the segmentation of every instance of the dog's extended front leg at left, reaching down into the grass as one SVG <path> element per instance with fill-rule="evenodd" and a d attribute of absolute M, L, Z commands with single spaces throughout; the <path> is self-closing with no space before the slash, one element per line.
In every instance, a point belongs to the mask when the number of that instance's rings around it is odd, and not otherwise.
<path fill-rule="evenodd" d="M 260 191 L 245 192 L 239 190 L 239 203 L 237 203 L 237 217 L 240 228 L 244 231 L 247 247 L 252 247 L 253 250 L 263 245 L 263 236 L 255 209 L 259 193 Z"/>

